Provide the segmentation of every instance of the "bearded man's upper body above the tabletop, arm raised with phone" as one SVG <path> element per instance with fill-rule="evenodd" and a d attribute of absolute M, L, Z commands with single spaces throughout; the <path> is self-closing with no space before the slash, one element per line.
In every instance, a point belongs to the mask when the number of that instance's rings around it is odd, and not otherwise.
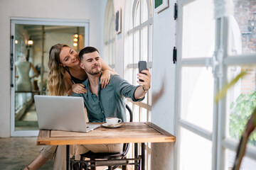
<path fill-rule="evenodd" d="M 87 108 L 87 115 L 90 122 L 105 122 L 107 117 L 117 117 L 125 121 L 124 97 L 132 98 L 132 101 L 142 101 L 146 91 L 150 88 L 151 75 L 148 70 L 146 74 L 138 74 L 138 81 L 142 86 L 133 86 L 118 75 L 111 75 L 109 84 L 100 88 L 100 76 L 102 74 L 99 52 L 95 47 L 85 47 L 79 53 L 80 67 L 87 73 L 88 79 L 82 84 L 85 85 L 87 93 L 75 94 L 82 96 Z"/>

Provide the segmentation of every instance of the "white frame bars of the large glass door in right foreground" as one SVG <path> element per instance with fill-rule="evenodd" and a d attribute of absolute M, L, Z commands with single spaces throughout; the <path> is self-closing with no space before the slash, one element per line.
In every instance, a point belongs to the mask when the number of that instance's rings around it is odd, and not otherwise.
<path fill-rule="evenodd" d="M 230 149 L 233 152 L 236 152 L 239 141 L 234 141 L 226 137 L 226 98 L 218 101 L 218 103 L 213 103 L 213 132 L 208 132 L 192 123 L 188 123 L 180 119 L 180 108 L 181 108 L 181 68 L 182 67 L 212 67 L 213 66 L 213 57 L 220 52 L 222 55 L 217 56 L 216 62 L 218 66 L 213 72 L 214 76 L 214 96 L 223 89 L 225 82 L 227 82 L 227 69 L 229 66 L 233 65 L 243 65 L 243 64 L 256 64 L 255 53 L 253 54 L 242 54 L 242 55 L 228 55 L 228 40 L 231 33 L 229 27 L 229 18 L 228 16 L 221 16 L 215 19 L 215 54 L 212 58 L 201 57 L 193 59 L 182 59 L 182 28 L 183 28 L 183 6 L 196 1 L 196 0 L 181 0 L 178 1 L 178 20 L 176 25 L 176 45 L 177 45 L 177 63 L 176 63 L 176 138 L 179 139 L 176 142 L 175 146 L 175 167 L 174 169 L 179 169 L 179 154 L 180 154 L 180 145 L 181 145 L 181 128 L 185 128 L 190 132 L 195 133 L 207 140 L 212 142 L 212 169 L 221 170 L 225 169 L 225 149 Z M 225 1 L 223 0 L 223 3 Z M 227 35 L 227 36 L 223 36 Z M 224 129 L 224 130 L 223 130 Z M 256 159 L 256 147 L 247 146 L 245 157 L 250 157 L 251 159 Z"/>

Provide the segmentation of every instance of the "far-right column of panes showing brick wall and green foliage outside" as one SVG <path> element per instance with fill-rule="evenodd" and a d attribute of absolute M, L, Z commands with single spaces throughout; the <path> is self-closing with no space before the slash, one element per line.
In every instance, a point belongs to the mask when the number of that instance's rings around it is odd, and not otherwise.
<path fill-rule="evenodd" d="M 223 136 L 221 147 L 218 152 L 223 155 L 220 159 L 225 169 L 233 167 L 236 149 L 242 131 L 245 130 L 247 120 L 256 106 L 256 5 L 253 1 L 233 0 L 233 15 L 222 18 L 223 31 L 228 32 L 228 37 L 223 40 L 227 48 L 224 48 L 223 82 L 234 79 L 240 72 L 247 72 L 235 86 L 228 90 L 223 105 L 223 123 L 219 128 L 225 129 L 220 134 Z M 256 132 L 252 132 L 247 142 L 245 157 L 242 159 L 240 169 L 256 169 Z"/>

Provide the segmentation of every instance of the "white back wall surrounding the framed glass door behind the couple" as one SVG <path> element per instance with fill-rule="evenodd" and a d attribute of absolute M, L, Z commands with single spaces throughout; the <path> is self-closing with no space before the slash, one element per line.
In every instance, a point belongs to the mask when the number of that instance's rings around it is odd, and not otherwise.
<path fill-rule="evenodd" d="M 103 21 L 107 0 L 0 1 L 0 137 L 10 136 L 10 19 L 60 18 L 90 20 L 90 45 L 103 52 Z"/>

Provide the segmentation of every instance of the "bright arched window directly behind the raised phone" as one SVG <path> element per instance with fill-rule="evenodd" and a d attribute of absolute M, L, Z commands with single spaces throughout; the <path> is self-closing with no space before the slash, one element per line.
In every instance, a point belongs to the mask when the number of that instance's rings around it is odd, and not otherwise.
<path fill-rule="evenodd" d="M 125 39 L 124 55 L 127 68 L 124 77 L 130 83 L 138 85 L 137 74 L 138 62 L 147 62 L 147 68 L 151 73 L 152 52 L 152 6 L 150 0 L 134 0 L 130 8 L 130 21 L 128 36 Z M 133 103 L 129 101 L 134 113 L 134 121 L 151 121 L 151 89 L 145 96 L 144 101 Z"/>

